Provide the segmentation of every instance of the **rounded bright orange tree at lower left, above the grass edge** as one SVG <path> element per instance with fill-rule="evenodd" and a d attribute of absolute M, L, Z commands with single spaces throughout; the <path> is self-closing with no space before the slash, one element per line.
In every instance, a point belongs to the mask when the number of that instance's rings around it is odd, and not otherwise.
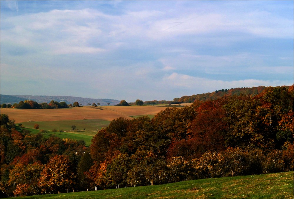
<path fill-rule="evenodd" d="M 41 172 L 38 182 L 42 193 L 61 193 L 74 190 L 76 175 L 68 158 L 56 155 L 52 157 Z"/>

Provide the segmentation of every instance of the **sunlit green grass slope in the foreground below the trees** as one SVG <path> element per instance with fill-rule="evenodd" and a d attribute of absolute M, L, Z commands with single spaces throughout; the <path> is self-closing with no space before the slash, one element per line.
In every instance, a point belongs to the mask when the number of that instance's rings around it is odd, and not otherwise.
<path fill-rule="evenodd" d="M 293 198 L 293 171 L 19 198 Z"/>

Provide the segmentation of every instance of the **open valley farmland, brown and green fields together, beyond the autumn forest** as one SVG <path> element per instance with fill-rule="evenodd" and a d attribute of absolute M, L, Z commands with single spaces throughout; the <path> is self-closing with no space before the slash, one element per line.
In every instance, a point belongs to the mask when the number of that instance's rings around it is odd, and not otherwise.
<path fill-rule="evenodd" d="M 39 132 L 39 130 L 33 129 L 34 125 L 38 124 L 40 129 L 48 131 L 43 134 L 44 137 L 55 135 L 61 139 L 84 140 L 88 147 L 97 130 L 108 126 L 111 120 L 118 117 L 133 119 L 144 115 L 152 118 L 166 108 L 158 106 L 83 106 L 62 109 L 1 108 L 1 114 L 7 114 L 9 119 L 15 120 L 17 126 L 21 123 L 31 133 Z M 76 131 L 71 130 L 72 125 L 76 126 Z M 52 132 L 53 129 L 66 132 Z"/>

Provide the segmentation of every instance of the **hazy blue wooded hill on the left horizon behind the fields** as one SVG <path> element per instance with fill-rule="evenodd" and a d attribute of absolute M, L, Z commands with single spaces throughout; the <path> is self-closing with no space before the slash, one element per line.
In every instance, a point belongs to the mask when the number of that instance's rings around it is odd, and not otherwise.
<path fill-rule="evenodd" d="M 93 99 L 93 98 L 82 98 L 82 97 L 73 97 L 73 96 L 33 96 L 33 95 L 0 95 L 0 104 L 11 104 L 19 103 L 20 101 L 33 100 L 38 103 L 49 103 L 50 101 L 64 101 L 67 104 L 73 104 L 78 102 L 81 106 L 88 106 L 88 103 L 91 105 L 93 103 L 100 103 L 101 106 L 106 106 L 107 103 L 110 103 L 111 106 L 118 104 L 120 101 L 114 99 Z"/>

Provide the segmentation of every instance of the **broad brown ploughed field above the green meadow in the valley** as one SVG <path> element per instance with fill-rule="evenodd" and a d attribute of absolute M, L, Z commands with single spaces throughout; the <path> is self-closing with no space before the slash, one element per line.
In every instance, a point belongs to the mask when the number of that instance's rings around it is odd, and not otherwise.
<path fill-rule="evenodd" d="M 102 109 L 102 110 L 101 110 Z M 101 119 L 111 121 L 118 117 L 132 119 L 136 115 L 156 115 L 166 107 L 160 106 L 102 106 L 101 109 L 83 106 L 62 109 L 14 109 L 1 108 L 1 114 L 7 114 L 15 123 L 31 121 L 58 121 Z"/>

